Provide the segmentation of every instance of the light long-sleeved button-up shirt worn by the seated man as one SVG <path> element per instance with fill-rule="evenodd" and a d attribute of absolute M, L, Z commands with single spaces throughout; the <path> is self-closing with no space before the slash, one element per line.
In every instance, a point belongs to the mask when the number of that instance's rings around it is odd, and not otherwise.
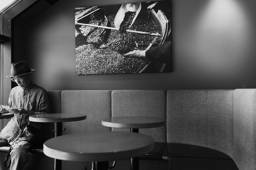
<path fill-rule="evenodd" d="M 49 99 L 44 88 L 34 84 L 25 90 L 19 86 L 12 88 L 9 96 L 9 107 L 24 108 L 33 111 L 33 114 L 50 113 Z M 41 123 L 29 121 L 29 117 L 24 114 L 14 114 L 14 117 L 7 123 L 1 131 L 7 140 L 14 139 L 27 125 L 40 128 Z"/>

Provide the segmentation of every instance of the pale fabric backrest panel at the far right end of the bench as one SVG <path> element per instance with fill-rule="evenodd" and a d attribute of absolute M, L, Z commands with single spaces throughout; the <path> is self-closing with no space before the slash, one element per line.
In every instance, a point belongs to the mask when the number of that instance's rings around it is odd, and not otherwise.
<path fill-rule="evenodd" d="M 234 162 L 256 169 L 256 89 L 234 90 Z"/>

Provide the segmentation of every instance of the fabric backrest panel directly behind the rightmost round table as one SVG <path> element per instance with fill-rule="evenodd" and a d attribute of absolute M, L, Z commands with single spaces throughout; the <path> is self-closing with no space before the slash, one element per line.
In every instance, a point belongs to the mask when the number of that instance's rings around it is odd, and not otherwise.
<path fill-rule="evenodd" d="M 118 116 L 149 116 L 166 119 L 165 90 L 113 90 L 112 117 Z M 112 128 L 121 131 L 129 129 Z M 154 138 L 155 142 L 166 142 L 166 126 L 139 129 Z"/>

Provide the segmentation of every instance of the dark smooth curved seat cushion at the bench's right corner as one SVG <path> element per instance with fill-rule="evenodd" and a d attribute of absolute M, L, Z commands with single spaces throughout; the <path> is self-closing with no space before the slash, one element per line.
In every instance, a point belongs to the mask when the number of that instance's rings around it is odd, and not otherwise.
<path fill-rule="evenodd" d="M 167 143 L 163 158 L 169 159 L 167 170 L 238 170 L 227 154 L 196 145 Z"/>

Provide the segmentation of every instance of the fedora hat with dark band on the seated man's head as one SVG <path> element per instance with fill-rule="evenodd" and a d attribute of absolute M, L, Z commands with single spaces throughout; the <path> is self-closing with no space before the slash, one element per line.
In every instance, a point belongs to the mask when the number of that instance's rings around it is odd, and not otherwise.
<path fill-rule="evenodd" d="M 35 69 L 30 69 L 26 61 L 20 61 L 18 63 L 12 63 L 11 75 L 6 77 L 15 77 L 35 72 Z"/>

